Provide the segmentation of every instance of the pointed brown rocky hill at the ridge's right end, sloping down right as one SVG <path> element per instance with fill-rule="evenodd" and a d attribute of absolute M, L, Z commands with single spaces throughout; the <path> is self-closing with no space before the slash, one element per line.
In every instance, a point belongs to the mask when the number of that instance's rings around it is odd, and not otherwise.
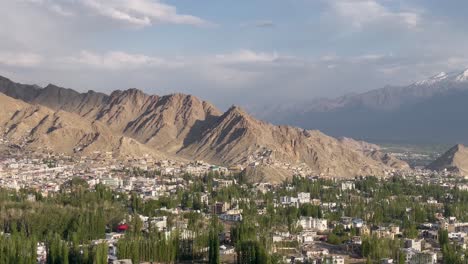
<path fill-rule="evenodd" d="M 236 164 L 255 160 L 243 153 L 255 156 L 265 152 L 268 154 L 263 159 L 267 162 L 305 163 L 315 174 L 337 177 L 383 175 L 385 167 L 319 131 L 274 126 L 254 119 L 239 107 L 231 107 L 199 140 L 179 153 L 214 163 Z"/>

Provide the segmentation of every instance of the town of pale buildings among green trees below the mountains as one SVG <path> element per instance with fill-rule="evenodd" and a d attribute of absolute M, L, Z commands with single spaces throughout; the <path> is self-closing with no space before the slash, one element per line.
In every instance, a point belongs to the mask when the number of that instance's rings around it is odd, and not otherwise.
<path fill-rule="evenodd" d="M 101 231 L 79 242 L 104 245 L 106 263 L 212 261 L 213 236 L 222 263 L 435 264 L 463 261 L 468 245 L 468 181 L 446 172 L 413 170 L 380 180 L 298 174 L 271 184 L 247 181 L 239 167 L 203 161 L 28 153 L 0 160 L 0 186 L 0 241 L 22 232 L 30 212 L 15 206 L 108 193 L 121 211 L 112 219 L 92 213 L 91 221 L 104 217 Z M 155 244 L 177 241 L 171 255 L 141 249 L 153 233 L 162 237 Z M 38 237 L 37 263 L 50 263 L 57 254 L 51 246 Z M 253 249 L 269 257 L 255 262 Z"/>

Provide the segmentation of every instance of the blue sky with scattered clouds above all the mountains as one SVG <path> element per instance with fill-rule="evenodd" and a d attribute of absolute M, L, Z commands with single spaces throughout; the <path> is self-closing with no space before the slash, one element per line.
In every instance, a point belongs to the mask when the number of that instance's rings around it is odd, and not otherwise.
<path fill-rule="evenodd" d="M 225 108 L 468 67 L 464 0 L 0 0 L 0 75 Z"/>

